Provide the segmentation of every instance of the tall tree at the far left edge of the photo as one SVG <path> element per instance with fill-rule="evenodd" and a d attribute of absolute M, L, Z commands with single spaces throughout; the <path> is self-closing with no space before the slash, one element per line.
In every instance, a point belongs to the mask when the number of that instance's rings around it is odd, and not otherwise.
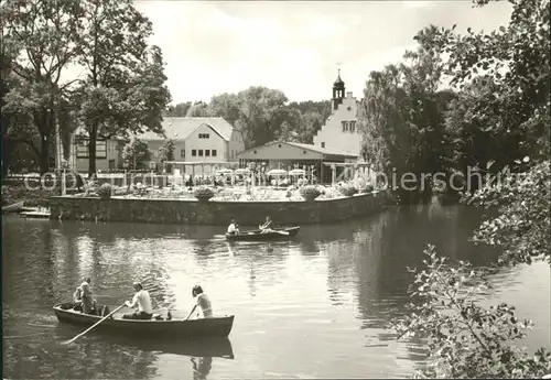
<path fill-rule="evenodd" d="M 83 14 L 76 0 L 14 0 L 2 3 L 0 12 L 2 55 L 9 51 L 13 74 L 8 77 L 11 85 L 2 113 L 9 115 L 7 129 L 17 126 L 23 132 L 20 141 L 39 154 L 41 172 L 45 173 L 57 108 L 73 83 L 62 84 L 62 73 L 75 56 L 75 35 Z M 30 138 L 34 133 L 37 143 Z"/>

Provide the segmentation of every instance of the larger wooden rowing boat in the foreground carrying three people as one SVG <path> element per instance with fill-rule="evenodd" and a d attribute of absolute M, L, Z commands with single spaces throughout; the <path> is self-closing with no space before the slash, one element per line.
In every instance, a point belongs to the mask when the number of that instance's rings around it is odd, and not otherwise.
<path fill-rule="evenodd" d="M 102 306 L 98 305 L 98 310 Z M 72 303 L 55 305 L 55 316 L 60 322 L 74 325 L 91 326 L 101 319 L 101 316 L 84 314 L 73 310 Z M 225 338 L 231 332 L 234 316 L 223 316 L 201 319 L 122 319 L 114 316 L 101 322 L 96 328 L 109 333 L 140 337 L 171 337 L 171 338 Z"/>

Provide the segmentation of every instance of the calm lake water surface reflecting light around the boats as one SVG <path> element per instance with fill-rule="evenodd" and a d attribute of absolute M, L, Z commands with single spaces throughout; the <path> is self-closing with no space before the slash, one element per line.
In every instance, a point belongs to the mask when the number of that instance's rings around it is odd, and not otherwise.
<path fill-rule="evenodd" d="M 2 219 L 3 377 L 224 379 L 407 377 L 425 352 L 385 329 L 403 314 L 407 265 L 428 242 L 453 259 L 487 264 L 497 252 L 467 237 L 469 207 L 393 208 L 361 220 L 303 227 L 292 242 L 233 243 L 223 228 Z M 230 347 L 147 343 L 58 324 L 56 302 L 90 276 L 111 310 L 140 279 L 154 307 L 185 316 L 201 283 L 215 313 L 235 314 Z M 525 344 L 551 347 L 550 270 L 533 264 L 494 278 L 493 302 L 537 323 Z M 233 351 L 234 358 L 220 358 Z M 222 354 L 220 354 L 222 352 Z"/>

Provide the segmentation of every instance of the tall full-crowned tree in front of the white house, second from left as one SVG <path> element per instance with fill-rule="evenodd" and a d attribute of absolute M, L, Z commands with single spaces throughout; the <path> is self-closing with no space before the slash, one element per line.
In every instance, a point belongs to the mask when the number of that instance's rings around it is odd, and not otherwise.
<path fill-rule="evenodd" d="M 89 137 L 88 174 L 94 175 L 97 139 L 161 132 L 170 93 L 161 50 L 148 48 L 151 22 L 132 1 L 80 3 L 86 22 L 78 32 L 78 63 L 87 77 L 79 89 L 79 119 Z"/>

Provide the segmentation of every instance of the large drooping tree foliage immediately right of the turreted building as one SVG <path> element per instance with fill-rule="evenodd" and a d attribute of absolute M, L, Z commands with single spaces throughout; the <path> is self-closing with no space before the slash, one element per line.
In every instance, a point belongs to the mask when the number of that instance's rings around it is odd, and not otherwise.
<path fill-rule="evenodd" d="M 445 171 L 449 139 L 444 115 L 449 94 L 437 91 L 442 59 L 421 46 L 406 63 L 371 72 L 361 101 L 361 154 L 376 171 L 400 178 L 411 173 L 414 191 L 395 188 L 404 202 L 426 197 L 431 183 L 421 173 Z M 396 173 L 392 171 L 396 170 Z M 424 181 L 424 183 L 422 182 Z M 424 189 L 424 193 L 423 193 Z"/>

